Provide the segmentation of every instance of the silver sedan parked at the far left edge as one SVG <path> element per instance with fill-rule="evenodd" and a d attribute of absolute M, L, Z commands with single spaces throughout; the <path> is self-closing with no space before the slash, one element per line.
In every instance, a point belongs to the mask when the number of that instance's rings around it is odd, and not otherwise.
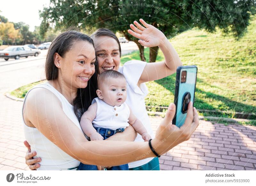
<path fill-rule="evenodd" d="M 38 56 L 40 50 L 31 49 L 28 46 L 10 46 L 0 51 L 0 58 L 8 61 L 10 58 L 19 59 L 20 57 Z"/>

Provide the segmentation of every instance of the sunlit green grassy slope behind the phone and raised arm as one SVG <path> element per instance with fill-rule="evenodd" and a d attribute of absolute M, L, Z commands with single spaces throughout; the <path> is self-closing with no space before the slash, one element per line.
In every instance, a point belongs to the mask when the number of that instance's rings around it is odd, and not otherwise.
<path fill-rule="evenodd" d="M 195 106 L 198 109 L 256 112 L 256 19 L 239 41 L 220 32 L 189 30 L 172 38 L 183 65 L 197 65 Z M 145 49 L 148 56 L 148 49 Z M 122 58 L 122 63 L 140 59 L 139 52 Z M 157 61 L 164 60 L 160 51 Z M 174 99 L 175 74 L 148 82 L 147 105 L 167 106 Z M 160 98 L 160 99 L 159 99 Z"/>

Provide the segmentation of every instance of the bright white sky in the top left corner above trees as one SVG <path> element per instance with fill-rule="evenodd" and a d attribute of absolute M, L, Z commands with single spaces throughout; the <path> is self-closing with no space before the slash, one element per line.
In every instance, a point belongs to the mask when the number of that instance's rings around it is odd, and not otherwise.
<path fill-rule="evenodd" d="M 40 26 L 39 10 L 43 5 L 49 5 L 50 0 L 2 0 L 0 15 L 11 22 L 24 22 L 29 25 L 29 30 L 34 31 L 35 26 Z"/>

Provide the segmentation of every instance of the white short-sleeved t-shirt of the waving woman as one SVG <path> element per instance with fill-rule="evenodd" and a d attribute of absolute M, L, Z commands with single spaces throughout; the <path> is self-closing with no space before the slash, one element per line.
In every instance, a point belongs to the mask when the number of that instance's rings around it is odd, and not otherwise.
<path fill-rule="evenodd" d="M 132 109 L 133 114 L 143 123 L 151 138 L 154 138 L 154 133 L 151 128 L 151 123 L 146 111 L 145 97 L 148 95 L 148 88 L 145 83 L 141 83 L 140 87 L 137 86 L 140 76 L 146 66 L 146 62 L 132 60 L 127 61 L 123 66 L 120 66 L 118 72 L 124 74 L 127 81 L 127 99 L 125 103 Z M 135 141 L 141 141 L 141 135 L 138 134 Z M 153 158 L 141 159 L 129 163 L 129 168 L 139 167 L 145 165 Z"/>

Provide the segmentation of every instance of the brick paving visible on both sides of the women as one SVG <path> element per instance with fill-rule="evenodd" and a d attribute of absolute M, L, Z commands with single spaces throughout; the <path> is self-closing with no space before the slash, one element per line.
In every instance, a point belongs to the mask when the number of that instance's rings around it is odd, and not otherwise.
<path fill-rule="evenodd" d="M 28 170 L 21 102 L 0 95 L 0 170 Z M 156 131 L 161 117 L 152 117 Z M 256 127 L 200 121 L 193 136 L 160 157 L 162 170 L 256 170 Z"/>

